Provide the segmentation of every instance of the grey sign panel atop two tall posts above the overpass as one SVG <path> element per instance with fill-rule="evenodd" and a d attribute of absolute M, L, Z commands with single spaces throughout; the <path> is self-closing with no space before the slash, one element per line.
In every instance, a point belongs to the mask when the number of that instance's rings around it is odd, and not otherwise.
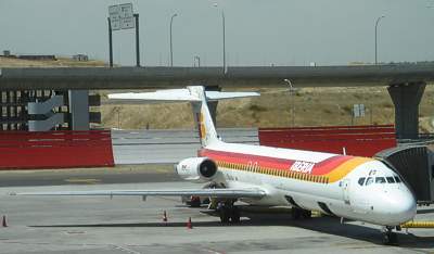
<path fill-rule="evenodd" d="M 112 30 L 135 28 L 132 3 L 124 3 L 108 7 Z"/>

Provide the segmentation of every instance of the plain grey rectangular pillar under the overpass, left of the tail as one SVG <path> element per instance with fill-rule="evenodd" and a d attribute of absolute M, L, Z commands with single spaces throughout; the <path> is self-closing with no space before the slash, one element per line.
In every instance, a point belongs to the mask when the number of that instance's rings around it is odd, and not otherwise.
<path fill-rule="evenodd" d="M 89 91 L 69 90 L 69 129 L 89 130 Z"/>

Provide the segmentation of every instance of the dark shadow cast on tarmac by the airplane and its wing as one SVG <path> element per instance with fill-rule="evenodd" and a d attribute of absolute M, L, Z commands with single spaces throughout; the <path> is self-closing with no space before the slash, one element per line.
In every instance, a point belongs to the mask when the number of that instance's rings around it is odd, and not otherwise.
<path fill-rule="evenodd" d="M 240 224 L 225 224 L 220 221 L 194 221 L 194 227 L 252 227 L 252 226 L 290 226 L 308 229 L 321 233 L 334 234 L 343 238 L 350 238 L 371 242 L 373 244 L 383 245 L 382 232 L 380 227 L 370 228 L 360 225 L 341 224 L 335 217 L 316 217 L 311 219 L 294 220 L 290 215 L 263 215 L 263 214 L 245 214 Z M 82 224 L 82 225 L 43 225 L 29 226 L 34 228 L 135 228 L 135 227 L 187 227 L 184 223 L 130 223 L 130 224 Z M 410 229 L 411 230 L 411 229 Z M 423 230 L 423 229 L 422 229 Z M 411 249 L 434 249 L 434 237 L 418 237 L 412 233 L 406 233 L 405 230 L 398 233 L 398 246 Z"/>

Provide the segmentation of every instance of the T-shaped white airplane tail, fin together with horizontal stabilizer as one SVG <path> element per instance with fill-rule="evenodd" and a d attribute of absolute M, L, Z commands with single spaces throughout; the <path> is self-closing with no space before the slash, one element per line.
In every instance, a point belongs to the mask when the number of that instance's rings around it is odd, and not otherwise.
<path fill-rule="evenodd" d="M 192 104 L 201 144 L 202 147 L 206 147 L 219 140 L 207 102 L 257 96 L 259 96 L 257 92 L 205 91 L 205 88 L 202 86 L 191 86 L 187 87 L 187 89 L 157 90 L 155 92 L 113 93 L 108 94 L 108 99 L 144 100 L 149 102 L 190 102 Z"/>

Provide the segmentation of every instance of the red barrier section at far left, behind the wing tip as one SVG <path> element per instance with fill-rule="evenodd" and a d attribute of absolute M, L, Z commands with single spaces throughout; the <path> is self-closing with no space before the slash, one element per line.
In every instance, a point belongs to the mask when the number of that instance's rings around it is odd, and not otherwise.
<path fill-rule="evenodd" d="M 0 169 L 102 166 L 114 166 L 110 130 L 0 132 Z"/>

